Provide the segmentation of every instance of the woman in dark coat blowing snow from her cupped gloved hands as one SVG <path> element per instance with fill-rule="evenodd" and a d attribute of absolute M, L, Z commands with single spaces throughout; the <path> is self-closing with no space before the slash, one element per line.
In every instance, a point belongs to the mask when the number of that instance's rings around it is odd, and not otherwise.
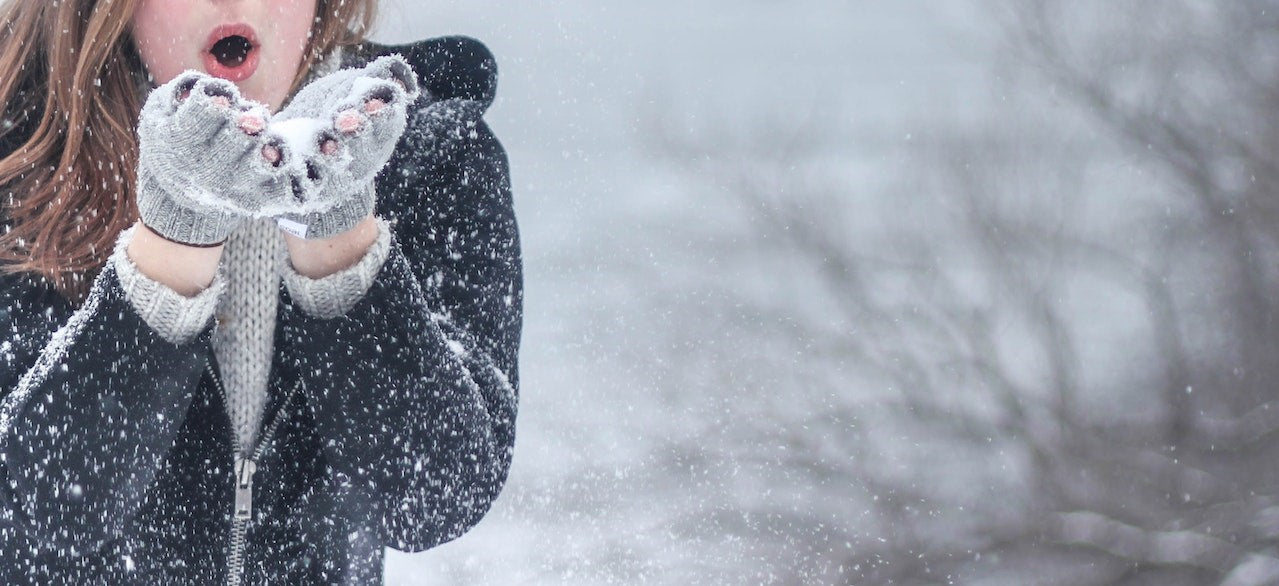
<path fill-rule="evenodd" d="M 380 583 L 384 546 L 501 490 L 522 276 L 494 61 L 361 42 L 372 14 L 5 5 L 4 583 Z M 375 189 L 350 161 L 385 161 Z"/>

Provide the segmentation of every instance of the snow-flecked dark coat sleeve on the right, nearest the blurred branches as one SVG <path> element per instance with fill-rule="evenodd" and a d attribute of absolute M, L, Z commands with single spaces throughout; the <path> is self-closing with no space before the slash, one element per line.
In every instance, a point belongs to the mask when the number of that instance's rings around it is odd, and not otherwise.
<path fill-rule="evenodd" d="M 508 162 L 478 118 L 462 136 L 444 152 L 413 137 L 396 150 L 379 189 L 394 238 L 358 303 L 331 320 L 284 305 L 330 468 L 403 550 L 477 523 L 514 447 L 523 293 Z M 444 162 L 414 162 L 422 148 Z"/>

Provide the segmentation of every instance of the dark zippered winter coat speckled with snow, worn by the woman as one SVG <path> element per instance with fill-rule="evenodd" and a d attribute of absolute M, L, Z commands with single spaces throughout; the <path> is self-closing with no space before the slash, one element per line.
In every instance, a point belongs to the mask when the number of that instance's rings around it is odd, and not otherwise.
<path fill-rule="evenodd" d="M 476 107 L 411 111 L 377 179 L 390 256 L 354 308 L 317 319 L 280 288 L 265 417 L 280 425 L 255 475 L 244 583 L 381 583 L 384 546 L 458 537 L 510 464 L 522 271 L 506 156 L 478 118 L 494 60 L 460 37 L 348 55 L 389 52 L 428 100 Z M 233 444 L 214 326 L 165 342 L 110 262 L 79 307 L 0 276 L 0 583 L 225 580 Z"/>

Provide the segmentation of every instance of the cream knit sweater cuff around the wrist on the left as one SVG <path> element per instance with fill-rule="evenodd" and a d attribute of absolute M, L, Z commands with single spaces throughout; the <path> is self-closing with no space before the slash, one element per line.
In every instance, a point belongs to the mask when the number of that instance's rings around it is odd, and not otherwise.
<path fill-rule="evenodd" d="M 134 230 L 137 226 L 120 233 L 110 258 L 120 278 L 124 297 L 161 338 L 173 344 L 189 342 L 203 331 L 212 319 L 214 311 L 217 310 L 217 299 L 226 289 L 226 279 L 219 269 L 208 288 L 196 297 L 183 297 L 168 285 L 142 274 L 133 258 L 129 258 L 127 251 L 129 242 L 133 242 Z"/>

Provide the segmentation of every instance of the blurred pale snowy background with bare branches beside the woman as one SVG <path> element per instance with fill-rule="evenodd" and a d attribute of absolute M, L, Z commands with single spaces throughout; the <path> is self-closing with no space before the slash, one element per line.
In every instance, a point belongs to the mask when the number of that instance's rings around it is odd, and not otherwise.
<path fill-rule="evenodd" d="M 510 480 L 391 585 L 1279 582 L 1279 1 L 384 0 L 500 67 Z"/>

